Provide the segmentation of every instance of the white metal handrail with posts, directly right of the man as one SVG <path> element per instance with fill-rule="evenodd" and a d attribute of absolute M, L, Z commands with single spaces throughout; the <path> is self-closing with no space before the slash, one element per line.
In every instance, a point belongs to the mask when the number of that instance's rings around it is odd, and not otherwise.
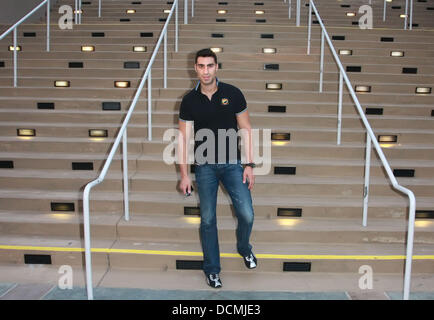
<path fill-rule="evenodd" d="M 367 209 L 368 209 L 368 197 L 369 197 L 369 171 L 371 165 L 371 143 L 374 145 L 375 150 L 381 160 L 381 163 L 384 166 L 384 169 L 387 172 L 387 176 L 392 183 L 393 188 L 396 190 L 406 194 L 409 199 L 409 221 L 408 221 L 408 234 L 407 234 L 407 249 L 406 249 L 406 262 L 405 262 L 405 275 L 404 275 L 404 300 L 409 299 L 410 295 L 410 278 L 411 278 L 411 264 L 413 258 L 413 236 L 414 236 L 414 221 L 415 221 L 415 209 L 416 209 L 416 198 L 414 193 L 402 187 L 398 184 L 396 177 L 394 176 L 392 169 L 383 153 L 383 150 L 380 144 L 377 141 L 377 138 L 371 128 L 371 125 L 368 122 L 365 114 L 363 113 L 363 109 L 360 105 L 359 99 L 357 98 L 354 89 L 352 88 L 351 82 L 348 79 L 348 76 L 345 72 L 342 63 L 336 54 L 336 50 L 333 46 L 333 43 L 330 40 L 330 37 L 327 33 L 327 30 L 322 22 L 322 19 L 315 7 L 313 0 L 309 0 L 309 25 L 308 25 L 308 49 L 307 54 L 310 54 L 310 41 L 311 41 L 311 28 L 312 28 L 312 10 L 314 11 L 319 25 L 321 26 L 321 65 L 320 65 L 320 92 L 322 92 L 322 81 L 323 81 L 323 67 L 324 67 L 324 38 L 327 40 L 327 43 L 330 47 L 330 51 L 333 54 L 333 58 L 336 62 L 337 67 L 339 68 L 339 106 L 338 106 L 338 137 L 337 144 L 340 144 L 340 134 L 341 134 L 341 125 L 342 125 L 342 87 L 343 80 L 345 80 L 345 84 L 348 88 L 348 91 L 353 98 L 354 103 L 356 104 L 357 111 L 360 115 L 360 118 L 366 129 L 366 159 L 365 159 L 365 184 L 364 184 L 364 194 L 363 194 L 363 226 L 367 225 Z"/>

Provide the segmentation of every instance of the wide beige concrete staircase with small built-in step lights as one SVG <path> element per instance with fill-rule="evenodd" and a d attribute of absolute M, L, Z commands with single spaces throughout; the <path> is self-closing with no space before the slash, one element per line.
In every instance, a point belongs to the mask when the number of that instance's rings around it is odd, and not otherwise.
<path fill-rule="evenodd" d="M 163 9 L 171 7 L 165 1 L 103 1 L 98 18 L 98 2 L 89 2 L 83 3 L 81 25 L 60 30 L 57 9 L 69 2 L 58 1 L 49 53 L 43 24 L 19 28 L 18 88 L 12 87 L 10 37 L 2 41 L 0 281 L 19 282 L 27 279 L 29 268 L 37 268 L 44 275 L 39 279 L 56 284 L 58 268 L 69 265 L 77 275 L 74 285 L 84 284 L 83 188 L 104 165 L 163 26 Z M 416 284 L 432 283 L 434 270 L 434 100 L 432 94 L 416 94 L 416 87 L 434 83 L 434 20 L 427 10 L 434 4 L 415 2 L 418 27 L 408 31 L 394 15 L 399 9 L 388 7 L 393 15 L 386 25 L 383 2 L 373 1 L 374 29 L 361 30 L 352 24 L 357 18 L 346 16 L 344 2 L 316 1 L 336 50 L 352 50 L 340 56 L 352 84 L 371 86 L 358 97 L 374 132 L 396 136 L 397 142 L 384 144 L 383 150 L 399 183 L 416 195 L 412 290 L 427 290 Z M 288 20 L 288 6 L 278 0 L 228 0 L 227 5 L 199 0 L 187 25 L 180 3 L 177 53 L 174 26 L 169 27 L 167 89 L 162 89 L 162 51 L 152 70 L 153 139 L 147 139 L 145 91 L 128 128 L 130 221 L 123 219 L 119 151 L 106 180 L 91 193 L 94 286 L 207 289 L 198 270 L 199 199 L 177 191 L 179 169 L 163 161 L 168 145 L 163 134 L 177 127 L 182 96 L 196 83 L 195 52 L 221 47 L 218 77 L 243 91 L 253 128 L 290 134 L 290 141 L 273 141 L 271 171 L 256 177 L 252 192 L 255 271 L 245 270 L 236 254 L 236 219 L 230 198 L 219 190 L 224 288 L 362 292 L 359 268 L 368 265 L 374 291 L 402 290 L 407 198 L 391 188 L 373 152 L 368 226 L 362 227 L 365 131 L 344 91 L 342 143 L 336 145 L 339 74 L 327 49 L 323 93 L 318 92 L 320 31 L 314 25 L 306 55 L 307 9 L 301 1 L 301 26 L 296 27 L 294 3 Z M 403 3 L 393 6 L 404 8 Z M 350 9 L 362 4 L 352 1 Z M 36 34 L 24 37 L 24 32 Z M 95 51 L 82 52 L 83 45 Z M 133 52 L 134 46 L 146 46 L 146 52 Z M 277 52 L 265 54 L 263 48 Z M 391 51 L 404 56 L 392 57 Z M 126 62 L 134 63 L 126 68 Z M 70 85 L 56 88 L 56 80 Z M 115 88 L 115 81 L 130 81 L 130 87 Z M 266 83 L 280 83 L 282 90 L 266 90 Z M 20 128 L 36 134 L 19 137 Z M 89 137 L 91 129 L 107 130 L 107 136 Z M 420 277 L 425 281 L 418 282 Z"/>

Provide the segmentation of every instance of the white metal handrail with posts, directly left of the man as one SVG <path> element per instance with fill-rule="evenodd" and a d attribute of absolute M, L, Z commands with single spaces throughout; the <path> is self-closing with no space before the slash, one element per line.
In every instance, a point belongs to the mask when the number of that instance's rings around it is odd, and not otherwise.
<path fill-rule="evenodd" d="M 152 140 L 152 65 L 155 61 L 155 57 L 159 51 L 161 42 L 164 40 L 164 88 L 167 88 L 167 30 L 169 22 L 175 12 L 175 51 L 178 52 L 178 0 L 174 0 L 172 8 L 170 10 L 169 16 L 167 17 L 166 23 L 164 24 L 163 30 L 161 31 L 158 42 L 155 45 L 154 51 L 152 53 L 151 59 L 149 60 L 146 71 L 140 81 L 139 87 L 134 95 L 133 101 L 130 105 L 128 113 L 122 123 L 121 129 L 116 137 L 115 142 L 110 150 L 109 156 L 105 161 L 104 167 L 94 181 L 89 182 L 84 188 L 83 192 L 83 219 L 84 219 L 84 244 L 85 244 L 85 260 L 86 260 L 86 287 L 87 287 L 87 297 L 89 300 L 93 300 L 93 287 L 92 287 L 92 257 L 91 257 L 91 246 L 90 246 L 90 214 L 89 214 L 89 197 L 91 189 L 104 181 L 107 171 L 112 163 L 115 152 L 117 151 L 119 144 L 122 139 L 122 163 L 123 163 L 123 187 L 124 187 L 124 211 L 125 220 L 129 221 L 129 200 L 128 200 L 128 151 L 127 151 L 127 126 L 131 118 L 136 103 L 142 93 L 142 89 L 145 85 L 146 80 L 148 80 L 148 140 Z"/>

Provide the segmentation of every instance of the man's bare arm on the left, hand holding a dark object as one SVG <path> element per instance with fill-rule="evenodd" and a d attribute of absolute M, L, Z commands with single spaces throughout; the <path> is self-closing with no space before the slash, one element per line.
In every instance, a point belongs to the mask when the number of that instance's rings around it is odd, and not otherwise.
<path fill-rule="evenodd" d="M 178 163 L 181 172 L 181 182 L 179 188 L 182 193 L 191 193 L 191 180 L 188 175 L 188 142 L 190 141 L 191 121 L 178 121 L 179 137 L 178 137 Z"/>

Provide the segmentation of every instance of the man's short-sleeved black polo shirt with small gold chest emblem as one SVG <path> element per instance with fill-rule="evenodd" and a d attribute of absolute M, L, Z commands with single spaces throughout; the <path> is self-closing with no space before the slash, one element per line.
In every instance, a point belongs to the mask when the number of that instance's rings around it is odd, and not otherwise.
<path fill-rule="evenodd" d="M 210 133 L 211 131 L 214 135 L 215 142 L 214 163 L 233 163 L 241 158 L 239 139 L 236 139 L 236 143 L 234 144 L 233 140 L 231 143 L 229 136 L 227 136 L 226 139 L 224 139 L 223 136 L 219 143 L 218 135 L 219 129 L 224 129 L 224 131 L 220 130 L 220 135 L 222 135 L 223 132 L 227 132 L 228 135 L 230 133 L 238 132 L 236 116 L 246 110 L 247 102 L 241 90 L 233 85 L 218 80 L 217 91 L 213 94 L 211 101 L 200 91 L 200 82 L 193 90 L 182 98 L 179 110 L 179 120 L 194 121 L 195 139 L 199 140 L 194 143 L 195 161 L 197 163 L 203 164 L 203 158 L 198 157 L 198 155 L 203 154 L 204 157 L 207 157 L 207 148 L 210 148 L 211 143 L 213 143 L 212 140 L 208 141 L 209 134 L 207 133 Z M 211 131 L 199 132 L 201 129 L 208 129 Z M 199 135 L 197 135 L 198 132 Z M 222 143 L 226 146 L 226 157 L 221 155 L 221 159 L 219 160 L 219 145 L 220 149 L 223 148 Z M 201 145 L 202 147 L 200 147 Z M 200 149 L 198 150 L 198 148 Z M 236 148 L 236 150 L 234 148 Z M 197 154 L 196 150 L 198 150 Z M 236 155 L 236 158 L 234 158 L 234 154 Z M 207 162 L 211 163 L 211 161 Z"/>

